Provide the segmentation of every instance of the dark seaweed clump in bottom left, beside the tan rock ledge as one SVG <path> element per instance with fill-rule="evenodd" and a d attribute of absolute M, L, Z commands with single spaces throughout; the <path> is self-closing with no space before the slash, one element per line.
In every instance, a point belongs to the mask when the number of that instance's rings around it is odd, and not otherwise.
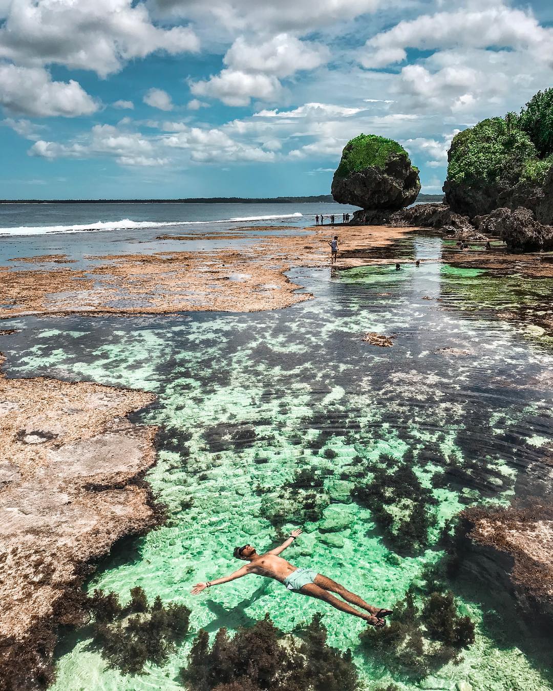
<path fill-rule="evenodd" d="M 93 642 L 108 667 L 123 674 L 140 674 L 144 664 L 162 665 L 188 633 L 190 610 L 185 605 L 150 605 L 144 590 L 131 589 L 131 601 L 121 605 L 115 593 L 95 590 L 87 600 L 93 617 Z"/>

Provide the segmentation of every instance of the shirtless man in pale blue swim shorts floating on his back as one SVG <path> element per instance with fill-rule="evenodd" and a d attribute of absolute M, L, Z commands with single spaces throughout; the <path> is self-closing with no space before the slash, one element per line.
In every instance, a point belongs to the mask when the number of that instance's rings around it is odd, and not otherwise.
<path fill-rule="evenodd" d="M 358 595 L 350 593 L 343 585 L 335 583 L 334 580 L 317 574 L 317 572 L 312 569 L 298 569 L 292 566 L 290 562 L 279 557 L 279 554 L 283 552 L 286 547 L 290 547 L 292 542 L 294 542 L 300 534 L 300 529 L 292 530 L 288 540 L 285 540 L 280 547 L 270 549 L 270 551 L 265 552 L 265 554 L 258 554 L 252 545 L 236 547 L 236 549 L 234 549 L 234 556 L 237 559 L 242 559 L 250 563 L 241 567 L 238 571 L 234 571 L 234 574 L 230 574 L 229 576 L 216 578 L 216 580 L 208 580 L 205 583 L 196 583 L 192 589 L 192 594 L 199 595 L 201 591 L 205 590 L 205 588 L 212 587 L 212 585 L 229 583 L 230 580 L 236 580 L 236 578 L 242 578 L 242 576 L 247 576 L 248 574 L 256 574 L 257 576 L 265 576 L 265 578 L 274 578 L 274 580 L 278 580 L 279 583 L 285 585 L 288 590 L 324 600 L 329 605 L 332 605 L 332 607 L 341 609 L 342 612 L 347 612 L 347 614 L 358 616 L 373 626 L 384 626 L 384 617 L 392 613 L 390 609 L 378 609 L 378 607 L 368 605 L 365 600 L 362 600 Z M 342 602 L 342 600 L 336 598 L 332 593 L 336 593 L 343 600 L 346 600 L 346 602 Z M 359 609 L 365 609 L 366 612 L 359 612 L 358 609 L 351 607 L 348 603 L 359 607 Z"/>

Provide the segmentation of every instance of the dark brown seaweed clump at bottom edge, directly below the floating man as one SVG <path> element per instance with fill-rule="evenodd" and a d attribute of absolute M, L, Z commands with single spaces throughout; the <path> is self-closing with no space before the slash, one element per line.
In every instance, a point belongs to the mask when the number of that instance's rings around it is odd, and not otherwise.
<path fill-rule="evenodd" d="M 348 651 L 341 654 L 326 643 L 321 616 L 301 630 L 301 643 L 285 635 L 265 616 L 233 638 L 218 630 L 200 631 L 180 670 L 180 681 L 190 691 L 355 691 L 357 670 Z"/>

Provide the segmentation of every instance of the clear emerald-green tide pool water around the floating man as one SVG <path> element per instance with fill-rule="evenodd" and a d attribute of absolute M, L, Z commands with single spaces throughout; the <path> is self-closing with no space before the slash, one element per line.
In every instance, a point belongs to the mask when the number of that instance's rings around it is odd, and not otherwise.
<path fill-rule="evenodd" d="M 438 258 L 441 240 L 415 238 L 402 250 Z M 274 544 L 265 518 L 285 497 L 283 487 L 299 468 L 328 472 L 324 490 L 351 471 L 355 456 L 415 454 L 415 471 L 433 491 L 438 528 L 467 504 L 506 503 L 514 495 L 547 495 L 550 482 L 538 460 L 551 442 L 551 390 L 539 377 L 553 366 L 550 339 L 497 319 L 516 304 L 521 290 L 540 301 L 552 281 L 491 280 L 478 269 L 423 263 L 332 272 L 308 269 L 291 277 L 316 299 L 287 310 L 254 314 L 196 313 L 142 319 L 13 320 L 24 330 L 1 342 L 6 370 L 14 377 L 48 374 L 91 379 L 155 392 L 158 401 L 136 417 L 162 424 L 160 460 L 149 473 L 156 496 L 169 507 L 169 523 L 126 546 L 102 564 L 90 589 L 122 596 L 142 585 L 150 596 L 184 602 L 192 609 L 191 637 L 251 625 L 270 612 L 283 630 L 325 612 L 329 642 L 351 647 L 366 688 L 391 681 L 386 668 L 357 647 L 364 624 L 326 605 L 288 593 L 259 577 L 238 580 L 198 598 L 198 580 L 236 568 L 235 545 Z M 393 348 L 375 348 L 368 331 L 394 335 Z M 443 348 L 468 351 L 451 355 Z M 310 440 L 324 436 L 321 449 Z M 333 458 L 324 452 L 332 449 Z M 478 469 L 449 473 L 445 457 Z M 529 468 L 532 470 L 529 471 Z M 262 489 L 261 489 L 262 488 Z M 189 500 L 194 500 L 191 508 Z M 288 503 L 285 511 L 293 513 Z M 285 556 L 339 580 L 377 605 L 393 605 L 442 556 L 433 544 L 407 558 L 386 545 L 368 509 L 332 501 L 323 518 L 339 509 L 350 527 L 337 533 L 343 547 L 324 541 L 318 524 Z M 294 521 L 285 522 L 290 529 Z M 475 689 L 552 688 L 545 673 L 548 641 L 514 610 L 501 579 L 505 564 L 478 554 L 462 562 L 451 587 L 463 614 L 478 622 L 476 644 L 463 663 L 440 672 L 433 688 L 470 681 Z M 124 678 L 106 671 L 100 656 L 79 636 L 60 646 L 56 691 L 77 689 L 176 689 L 188 645 L 166 668 Z M 401 680 L 400 680 L 401 681 Z M 406 688 L 417 688 L 406 683 Z M 427 687 L 428 688 L 428 687 Z"/>

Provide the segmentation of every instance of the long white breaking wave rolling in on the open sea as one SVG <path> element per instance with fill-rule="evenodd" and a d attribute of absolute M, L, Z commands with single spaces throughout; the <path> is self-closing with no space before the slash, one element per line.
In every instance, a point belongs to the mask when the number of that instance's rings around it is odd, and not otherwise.
<path fill-rule="evenodd" d="M 102 230 L 131 230 L 137 228 L 162 228 L 178 225 L 203 225 L 206 223 L 246 223 L 254 220 L 273 220 L 276 218 L 300 218 L 303 214 L 273 214 L 272 216 L 244 216 L 243 218 L 221 218 L 221 220 L 122 220 L 97 221 L 83 225 L 37 225 L 0 228 L 0 235 L 46 235 L 47 233 L 86 233 Z"/>

